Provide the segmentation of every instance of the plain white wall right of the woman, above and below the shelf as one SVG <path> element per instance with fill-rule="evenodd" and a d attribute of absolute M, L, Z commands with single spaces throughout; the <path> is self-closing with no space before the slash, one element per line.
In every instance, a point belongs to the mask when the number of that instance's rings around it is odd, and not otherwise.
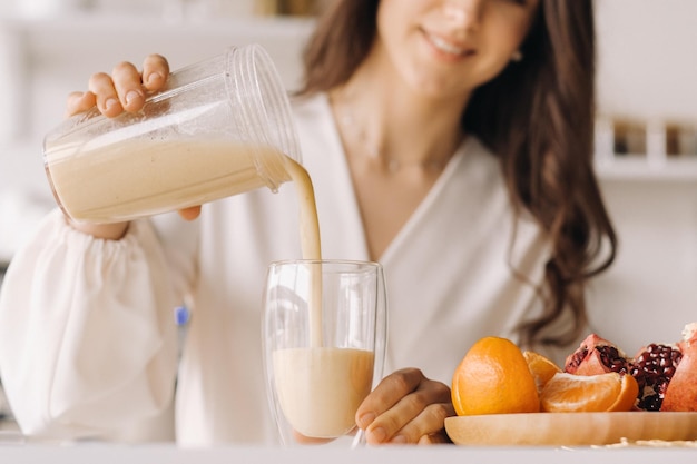
<path fill-rule="evenodd" d="M 697 1 L 596 0 L 596 10 L 599 111 L 697 124 Z M 679 177 L 602 181 L 620 249 L 591 316 L 630 355 L 697 320 L 697 178 Z"/>

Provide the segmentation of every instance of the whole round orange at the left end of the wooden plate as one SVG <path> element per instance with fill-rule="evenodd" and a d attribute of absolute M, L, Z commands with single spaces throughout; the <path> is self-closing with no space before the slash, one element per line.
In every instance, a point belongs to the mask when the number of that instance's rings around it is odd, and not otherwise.
<path fill-rule="evenodd" d="M 451 395 L 460 416 L 540 411 L 528 363 L 505 338 L 484 337 L 472 345 L 453 374 Z"/>

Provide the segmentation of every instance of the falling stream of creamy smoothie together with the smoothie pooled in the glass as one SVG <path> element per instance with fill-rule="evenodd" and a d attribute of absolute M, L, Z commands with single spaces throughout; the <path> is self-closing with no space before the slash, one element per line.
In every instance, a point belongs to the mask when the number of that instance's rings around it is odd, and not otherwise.
<path fill-rule="evenodd" d="M 286 169 L 301 205 L 303 258 L 321 259 L 317 208 L 307 171 L 291 158 Z M 281 408 L 302 435 L 334 438 L 355 426 L 355 413 L 373 384 L 374 353 L 322 344 L 322 267 L 310 267 L 310 346 L 273 353 Z"/>

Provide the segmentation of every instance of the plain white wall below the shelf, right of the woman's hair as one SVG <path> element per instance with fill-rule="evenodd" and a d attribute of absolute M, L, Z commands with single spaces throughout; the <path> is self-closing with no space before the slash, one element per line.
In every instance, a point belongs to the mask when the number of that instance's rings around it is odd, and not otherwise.
<path fill-rule="evenodd" d="M 605 180 L 617 261 L 593 283 L 591 324 L 634 355 L 697 320 L 697 182 Z"/>

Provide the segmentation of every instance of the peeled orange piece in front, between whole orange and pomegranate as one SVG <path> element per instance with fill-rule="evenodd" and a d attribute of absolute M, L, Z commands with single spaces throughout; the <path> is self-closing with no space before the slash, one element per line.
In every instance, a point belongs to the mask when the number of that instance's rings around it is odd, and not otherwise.
<path fill-rule="evenodd" d="M 630 411 L 638 393 L 631 375 L 559 373 L 540 392 L 540 404 L 550 413 Z"/>

